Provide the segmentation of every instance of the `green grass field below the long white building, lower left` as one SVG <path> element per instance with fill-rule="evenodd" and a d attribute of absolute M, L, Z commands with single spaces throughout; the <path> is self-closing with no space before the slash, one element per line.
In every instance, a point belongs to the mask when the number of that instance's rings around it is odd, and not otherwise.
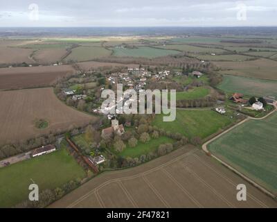
<path fill-rule="evenodd" d="M 83 169 L 65 148 L 0 168 L 0 207 L 12 207 L 28 199 L 28 187 L 33 183 L 31 179 L 39 185 L 39 191 L 43 191 L 85 176 Z"/>

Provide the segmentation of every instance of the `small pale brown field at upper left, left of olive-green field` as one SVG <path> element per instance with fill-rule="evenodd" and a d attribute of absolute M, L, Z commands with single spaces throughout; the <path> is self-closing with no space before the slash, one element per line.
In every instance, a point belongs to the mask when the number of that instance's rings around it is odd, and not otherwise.
<path fill-rule="evenodd" d="M 34 60 L 39 64 L 49 64 L 60 62 L 67 53 L 66 49 L 39 49 L 33 56 Z"/>

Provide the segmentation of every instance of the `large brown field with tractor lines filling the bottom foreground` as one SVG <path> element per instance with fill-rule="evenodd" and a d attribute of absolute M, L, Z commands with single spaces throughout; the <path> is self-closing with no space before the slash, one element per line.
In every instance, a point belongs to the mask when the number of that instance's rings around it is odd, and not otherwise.
<path fill-rule="evenodd" d="M 247 185 L 247 201 L 236 199 Z M 188 145 L 139 167 L 102 173 L 49 207 L 277 207 L 277 202 Z"/>

